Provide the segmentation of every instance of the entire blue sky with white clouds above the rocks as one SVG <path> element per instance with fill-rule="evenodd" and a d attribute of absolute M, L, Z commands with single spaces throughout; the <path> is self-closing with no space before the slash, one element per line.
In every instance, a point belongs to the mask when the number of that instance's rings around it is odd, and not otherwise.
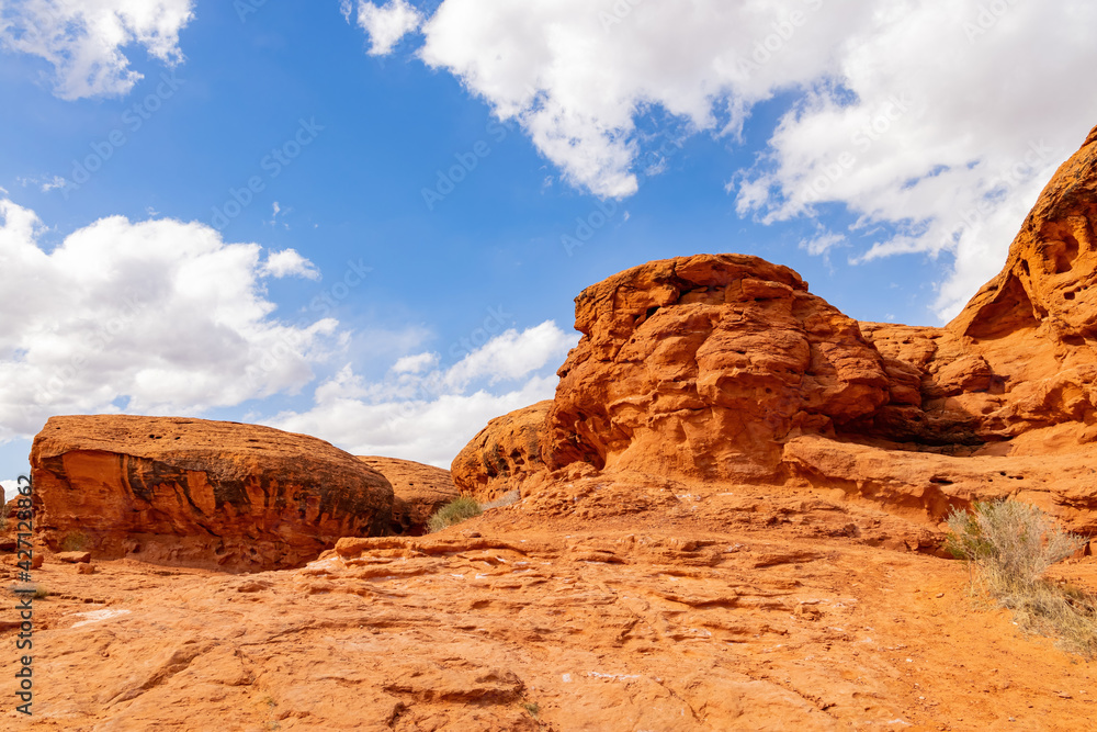
<path fill-rule="evenodd" d="M 578 292 L 790 266 L 940 324 L 1097 124 L 1088 2 L 0 0 L 0 476 L 53 414 L 446 465 Z"/>

